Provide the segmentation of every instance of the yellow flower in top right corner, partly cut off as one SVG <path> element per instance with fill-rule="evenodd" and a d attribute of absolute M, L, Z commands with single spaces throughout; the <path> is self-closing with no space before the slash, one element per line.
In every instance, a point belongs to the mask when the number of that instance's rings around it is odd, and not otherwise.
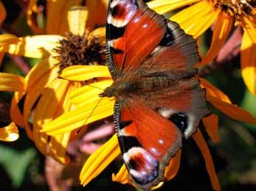
<path fill-rule="evenodd" d="M 169 12 L 188 6 L 170 20 L 176 21 L 181 28 L 193 37 L 202 35 L 214 24 L 212 43 L 200 65 L 213 60 L 233 26 L 241 26 L 241 73 L 249 91 L 256 94 L 256 7 L 254 1 L 237 0 L 155 0 L 148 3 L 158 12 Z M 198 65 L 199 66 L 199 65 Z"/>

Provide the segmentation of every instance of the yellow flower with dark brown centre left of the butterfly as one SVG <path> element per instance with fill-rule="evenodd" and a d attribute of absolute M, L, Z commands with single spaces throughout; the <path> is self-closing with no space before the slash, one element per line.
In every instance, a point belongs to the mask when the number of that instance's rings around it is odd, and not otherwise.
<path fill-rule="evenodd" d="M 84 80 L 105 77 L 100 72 L 100 64 L 105 62 L 105 28 L 93 30 L 100 18 L 96 19 L 91 15 L 100 1 L 97 4 L 86 1 L 86 7 L 79 6 L 81 2 L 47 1 L 47 24 L 44 31 L 55 35 L 0 35 L 0 52 L 41 59 L 25 76 L 25 90 L 15 91 L 10 108 L 11 118 L 18 126 L 25 127 L 28 137 L 35 142 L 42 154 L 50 155 L 63 164 L 70 160 L 66 154 L 69 141 L 83 134 L 86 127 L 82 124 L 79 131 L 52 137 L 40 132 L 43 126 L 59 115 L 75 109 L 69 95 L 85 84 L 63 79 L 61 71 L 64 68 L 69 70 L 69 65 L 80 65 L 82 68 L 78 68 L 76 72 L 86 70 L 90 73 Z M 75 5 L 77 6 L 72 7 Z M 30 1 L 30 6 L 32 10 L 36 10 L 36 1 Z M 101 7 L 105 9 L 103 4 Z M 99 14 L 101 19 L 104 15 L 104 21 L 105 12 L 106 10 Z M 65 32 L 66 35 L 63 35 Z"/>

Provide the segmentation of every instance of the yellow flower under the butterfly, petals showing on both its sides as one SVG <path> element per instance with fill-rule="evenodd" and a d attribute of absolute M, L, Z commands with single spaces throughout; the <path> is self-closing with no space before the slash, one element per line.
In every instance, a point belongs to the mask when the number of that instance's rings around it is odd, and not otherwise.
<path fill-rule="evenodd" d="M 83 80 L 86 75 L 76 72 L 76 68 L 77 66 L 72 66 L 71 71 L 64 69 L 63 78 L 70 80 Z M 108 73 L 108 68 L 103 66 L 101 72 Z M 75 104 L 76 109 L 66 112 L 55 120 L 52 120 L 50 123 L 46 124 L 44 129 L 41 131 L 44 131 L 49 135 L 63 134 L 65 132 L 75 130 L 83 124 L 88 124 L 94 122 L 95 120 L 100 120 L 100 118 L 105 118 L 106 116 L 112 115 L 114 109 L 114 100 L 98 97 L 98 95 L 103 92 L 105 87 L 108 87 L 112 83 L 110 74 L 108 75 L 108 77 L 106 75 L 106 78 L 100 82 L 94 82 L 75 90 L 70 95 L 70 98 L 72 103 Z M 224 114 L 230 118 L 246 123 L 256 123 L 256 118 L 243 109 L 233 105 L 227 95 L 222 93 L 221 90 L 218 90 L 205 79 L 200 80 L 201 86 L 207 90 L 207 101 L 209 101 L 210 104 L 219 109 L 221 112 L 224 112 Z M 204 118 L 203 123 L 212 140 L 218 141 L 218 117 L 212 114 L 209 117 Z M 209 148 L 207 147 L 207 143 L 205 142 L 200 130 L 193 135 L 193 139 L 196 141 L 196 144 L 204 156 L 207 172 L 209 173 L 213 189 L 221 190 Z M 87 159 L 80 173 L 81 184 L 83 184 L 83 186 L 88 184 L 91 179 L 94 179 L 94 177 L 100 174 L 100 172 L 102 172 L 105 167 L 107 167 L 108 164 L 110 164 L 119 155 L 120 148 L 117 141 L 117 135 L 114 134 L 111 140 L 108 140 L 107 143 L 91 154 L 89 159 Z M 181 151 L 179 151 L 176 156 L 171 159 L 170 165 L 166 167 L 165 176 L 167 180 L 173 179 L 173 177 L 176 176 L 176 173 L 179 170 L 180 156 Z M 132 184 L 131 180 L 128 178 L 128 172 L 126 171 L 125 166 L 122 166 L 120 172 L 117 173 L 117 175 L 113 175 L 112 179 L 123 184 Z"/>

